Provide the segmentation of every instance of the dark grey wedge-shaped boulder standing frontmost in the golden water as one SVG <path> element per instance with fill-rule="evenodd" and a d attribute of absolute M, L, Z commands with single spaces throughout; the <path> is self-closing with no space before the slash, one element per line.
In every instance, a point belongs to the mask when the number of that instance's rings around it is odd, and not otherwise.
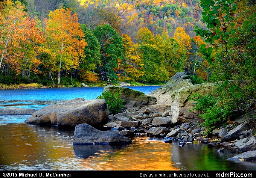
<path fill-rule="evenodd" d="M 76 125 L 73 145 L 121 145 L 130 144 L 131 139 L 119 133 L 100 131 L 89 124 Z"/>

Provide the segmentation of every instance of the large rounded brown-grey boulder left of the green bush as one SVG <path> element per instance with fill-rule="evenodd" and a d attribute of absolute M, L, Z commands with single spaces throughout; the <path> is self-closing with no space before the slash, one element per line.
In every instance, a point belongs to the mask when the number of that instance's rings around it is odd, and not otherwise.
<path fill-rule="evenodd" d="M 52 104 L 33 113 L 26 123 L 52 124 L 59 127 L 75 127 L 86 123 L 98 127 L 108 118 L 108 107 L 104 99 L 85 100 L 76 98 L 62 104 Z"/>

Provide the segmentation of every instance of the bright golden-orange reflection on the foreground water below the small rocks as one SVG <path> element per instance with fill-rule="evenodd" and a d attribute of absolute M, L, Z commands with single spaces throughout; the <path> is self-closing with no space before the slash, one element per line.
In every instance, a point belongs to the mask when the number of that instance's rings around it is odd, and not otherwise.
<path fill-rule="evenodd" d="M 98 157 L 83 160 L 81 170 L 178 170 L 171 161 L 172 144 L 148 139 L 134 137 L 133 143 L 123 148 L 98 152 Z"/>

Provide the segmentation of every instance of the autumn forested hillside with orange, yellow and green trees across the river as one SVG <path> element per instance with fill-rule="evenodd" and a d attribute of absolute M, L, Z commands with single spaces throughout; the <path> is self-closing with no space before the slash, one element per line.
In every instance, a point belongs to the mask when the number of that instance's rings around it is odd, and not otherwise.
<path fill-rule="evenodd" d="M 178 71 L 189 72 L 196 83 L 209 81 L 221 69 L 217 63 L 209 66 L 223 46 L 223 33 L 216 34 L 230 30 L 218 16 L 206 15 L 220 1 L 207 2 L 206 9 L 199 0 L 0 2 L 3 84 L 72 85 L 105 82 L 108 77 L 113 83 L 166 82 Z M 238 29 L 255 4 L 243 0 L 220 6 L 215 15 L 228 9 L 229 21 L 236 23 L 227 25 Z M 214 27 L 221 25 L 218 31 L 210 30 L 209 19 Z M 207 41 L 209 36 L 218 44 Z"/>

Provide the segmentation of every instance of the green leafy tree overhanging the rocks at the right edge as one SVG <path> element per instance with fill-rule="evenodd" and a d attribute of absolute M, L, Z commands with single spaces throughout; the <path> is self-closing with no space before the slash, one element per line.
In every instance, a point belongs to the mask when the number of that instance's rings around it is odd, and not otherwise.
<path fill-rule="evenodd" d="M 201 7 L 208 29 L 195 26 L 195 32 L 211 44 L 201 45 L 201 52 L 211 65 L 213 81 L 222 80 L 217 88 L 220 104 L 248 113 L 256 104 L 256 5 L 247 0 L 206 0 Z"/>

